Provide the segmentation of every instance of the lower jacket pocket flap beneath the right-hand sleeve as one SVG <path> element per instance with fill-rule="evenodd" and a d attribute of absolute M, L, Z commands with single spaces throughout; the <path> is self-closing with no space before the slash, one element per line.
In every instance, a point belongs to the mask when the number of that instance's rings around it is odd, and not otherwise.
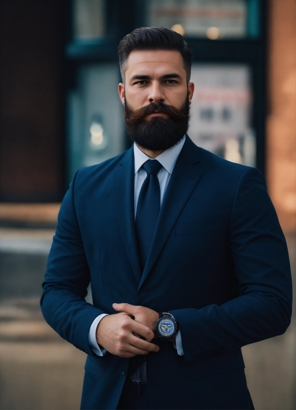
<path fill-rule="evenodd" d="M 192 380 L 202 379 L 215 374 L 225 373 L 245 367 L 241 350 L 231 353 L 217 354 L 206 359 L 194 360 L 190 363 Z"/>

